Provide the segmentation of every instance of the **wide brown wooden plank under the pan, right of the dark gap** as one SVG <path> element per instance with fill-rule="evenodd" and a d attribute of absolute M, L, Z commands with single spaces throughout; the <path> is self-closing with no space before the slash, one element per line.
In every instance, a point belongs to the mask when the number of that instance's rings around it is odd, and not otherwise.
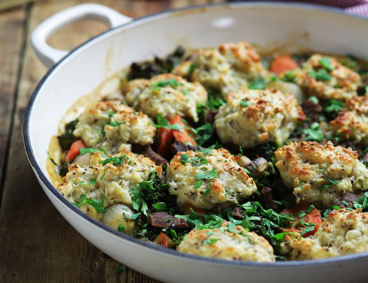
<path fill-rule="evenodd" d="M 204 2 L 192 0 L 189 4 Z M 83 1 L 36 2 L 29 15 L 28 33 L 50 15 L 79 3 Z M 132 17 L 188 5 L 174 0 L 116 0 L 103 4 Z M 105 28 L 91 21 L 75 23 L 59 31 L 49 43 L 70 49 Z M 46 71 L 32 50 L 28 34 L 0 210 L 0 250 L 5 259 L 0 281 L 157 283 L 129 268 L 117 274 L 120 263 L 95 248 L 63 219 L 33 175 L 23 150 L 22 120 L 29 97 Z"/>

